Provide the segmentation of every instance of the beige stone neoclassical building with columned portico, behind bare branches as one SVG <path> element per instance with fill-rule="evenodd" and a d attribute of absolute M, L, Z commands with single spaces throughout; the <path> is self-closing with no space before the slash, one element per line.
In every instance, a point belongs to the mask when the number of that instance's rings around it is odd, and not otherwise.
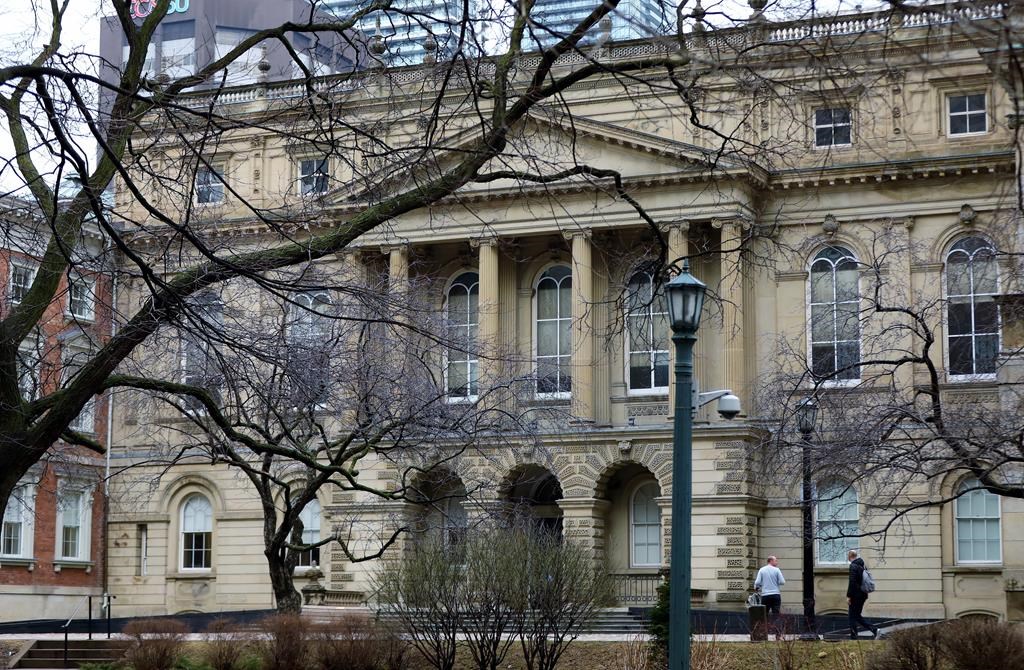
<path fill-rule="evenodd" d="M 763 414 L 759 390 L 786 352 L 812 376 L 838 376 L 834 388 L 866 381 L 840 374 L 870 348 L 871 323 L 853 319 L 854 327 L 849 317 L 872 286 L 863 268 L 883 251 L 902 250 L 886 266 L 889 286 L 973 310 L 971 319 L 951 321 L 937 312 L 934 357 L 943 393 L 998 404 L 1016 383 L 1007 375 L 1021 342 L 1005 328 L 1006 318 L 991 318 L 996 296 L 1014 292 L 1010 268 L 993 259 L 996 246 L 1007 248 L 1001 222 L 1016 211 L 1019 166 L 1015 129 L 1007 122 L 1014 107 L 978 43 L 957 28 L 1004 18 L 1002 5 L 982 4 L 990 13 L 965 13 L 964 22 L 864 14 L 854 17 L 860 22 L 855 33 L 850 17 L 728 33 L 724 43 L 767 43 L 769 55 L 771 45 L 803 53 L 821 46 L 818 37 L 829 49 L 833 40 L 850 40 L 849 62 L 857 67 L 822 78 L 801 70 L 803 61 L 762 54 L 748 67 L 758 81 L 777 87 L 774 95 L 749 85 L 751 79 L 732 78 L 728 68 L 714 69 L 692 89 L 693 99 L 714 110 L 705 127 L 689 123 L 680 98 L 666 92 L 671 86 L 631 97 L 613 78 L 564 91 L 560 102 L 570 117 L 536 114 L 523 124 L 523 156 L 615 170 L 656 228 L 602 184 L 475 184 L 429 211 L 402 215 L 348 253 L 313 263 L 309 271 L 335 278 L 384 274 L 390 287 L 418 280 L 427 301 L 467 338 L 511 353 L 515 376 L 529 380 L 525 395 L 509 401 L 517 412 L 544 410 L 563 419 L 539 421 L 519 441 L 481 439 L 453 456 L 441 484 L 419 483 L 424 490 L 443 488 L 431 496 L 446 501 L 443 509 L 325 490 L 303 511 L 309 539 L 330 530 L 345 534 L 351 546 L 372 549 L 390 531 L 418 528 L 435 515 L 440 519 L 428 528 L 447 533 L 496 507 L 525 505 L 539 524 L 592 551 L 614 575 L 623 604 L 649 602 L 669 564 L 677 485 L 671 476 L 671 346 L 649 270 L 664 241 L 668 257 L 690 257 L 721 298 L 699 332 L 699 385 L 731 389 L 744 407 L 731 419 L 713 408 L 697 414 L 694 597 L 702 606 L 740 609 L 768 554 L 780 557 L 790 584 L 799 584 L 799 460 L 770 472 L 759 467 L 758 446 L 778 429 L 777 417 Z M 692 39 L 694 52 L 707 58 L 722 43 Z M 607 57 L 644 57 L 659 48 L 649 41 L 613 45 Z M 885 59 L 874 57 L 883 52 Z M 403 70 L 390 87 L 368 80 L 346 98 L 346 112 L 369 128 L 383 114 L 379 95 L 415 108 L 421 73 L 426 77 L 426 69 Z M 270 87 L 266 95 L 233 95 L 223 112 L 245 117 L 291 103 Z M 387 132 L 416 137 L 422 126 L 409 117 Z M 716 154 L 719 133 L 751 153 Z M 172 143 L 157 149 L 173 162 Z M 252 130 L 222 138 L 217 151 L 211 160 L 222 166 L 218 178 L 230 183 L 230 194 L 208 190 L 195 197 L 206 199 L 218 240 L 230 240 L 225 232 L 236 225 L 239 248 L 265 242 L 243 204 L 249 199 L 318 208 L 325 228 L 352 211 L 351 166 L 358 160 L 321 159 L 284 136 Z M 325 179 L 321 187 L 314 173 L 339 185 Z M 306 176 L 313 200 L 294 189 Z M 140 218 L 126 194 L 119 194 L 118 206 L 127 220 Z M 166 248 L 157 236 L 134 243 L 139 253 Z M 962 281 L 965 268 L 971 282 Z M 231 299 L 242 301 L 233 309 L 254 324 L 270 309 L 266 301 L 246 302 L 228 292 L 225 310 Z M 187 377 L 195 357 L 179 346 L 186 344 L 170 338 L 140 357 L 164 362 L 171 377 Z M 436 378 L 450 402 L 478 401 L 477 389 L 499 374 L 487 357 L 471 351 L 453 348 L 438 361 Z M 139 407 L 116 411 L 117 467 L 179 445 L 174 435 L 188 430 L 187 418 L 169 410 L 143 416 Z M 330 420 L 343 429 L 344 416 Z M 388 483 L 399 469 L 397 462 L 369 459 L 359 476 Z M 246 479 L 201 460 L 157 474 L 135 468 L 113 487 L 108 546 L 119 609 L 148 615 L 270 606 L 265 562 L 254 550 L 262 514 Z M 933 486 L 952 498 L 971 485 L 952 473 L 937 484 L 923 481 L 907 500 Z M 876 543 L 860 538 L 885 520 L 872 513 L 877 501 L 866 489 L 844 480 L 841 470 L 815 488 L 818 612 L 845 612 L 843 556 L 858 546 L 879 584 L 872 615 L 1024 620 L 1021 501 L 975 492 L 914 511 L 908 525 Z M 412 549 L 397 547 L 392 555 L 402 550 Z M 330 546 L 318 558 L 329 601 L 372 597 L 373 562 L 351 563 Z M 784 602 L 800 602 L 798 587 L 787 589 Z"/>

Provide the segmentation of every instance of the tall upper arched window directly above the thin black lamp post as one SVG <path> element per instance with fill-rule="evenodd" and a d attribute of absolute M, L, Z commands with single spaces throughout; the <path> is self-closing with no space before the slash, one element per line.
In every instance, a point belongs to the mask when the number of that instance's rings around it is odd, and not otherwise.
<path fill-rule="evenodd" d="M 811 263 L 811 370 L 828 380 L 860 379 L 860 270 L 848 249 L 828 247 Z"/>

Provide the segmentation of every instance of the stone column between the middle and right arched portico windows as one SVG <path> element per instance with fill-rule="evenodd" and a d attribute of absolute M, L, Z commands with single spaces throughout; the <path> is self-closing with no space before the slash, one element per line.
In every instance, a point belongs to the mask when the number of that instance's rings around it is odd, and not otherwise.
<path fill-rule="evenodd" d="M 594 421 L 594 269 L 590 231 L 566 233 L 572 241 L 572 416 Z"/>

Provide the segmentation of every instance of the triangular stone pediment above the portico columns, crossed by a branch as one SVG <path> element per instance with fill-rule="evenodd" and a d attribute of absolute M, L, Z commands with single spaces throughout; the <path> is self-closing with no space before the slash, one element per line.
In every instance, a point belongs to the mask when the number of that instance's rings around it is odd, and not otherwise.
<path fill-rule="evenodd" d="M 479 140 L 479 128 L 473 127 L 435 141 L 436 150 L 427 152 L 417 162 L 379 168 L 380 179 L 364 179 L 345 184 L 329 194 L 335 205 L 373 200 L 382 193 L 399 193 L 417 184 L 423 185 L 443 170 L 467 156 Z M 581 166 L 592 168 L 587 173 L 569 174 Z M 506 151 L 481 168 L 481 175 L 490 175 L 483 182 L 468 183 L 459 191 L 462 196 L 484 193 L 508 193 L 559 186 L 580 187 L 588 182 L 609 179 L 613 171 L 624 181 L 633 179 L 671 179 L 674 176 L 701 178 L 712 169 L 745 171 L 744 166 L 729 164 L 714 152 L 655 134 L 597 121 L 584 117 L 553 120 L 531 115 L 510 134 Z M 563 173 L 557 181 L 543 177 Z M 541 178 L 538 178 L 541 177 Z M 368 189 L 371 186 L 372 190 Z"/>

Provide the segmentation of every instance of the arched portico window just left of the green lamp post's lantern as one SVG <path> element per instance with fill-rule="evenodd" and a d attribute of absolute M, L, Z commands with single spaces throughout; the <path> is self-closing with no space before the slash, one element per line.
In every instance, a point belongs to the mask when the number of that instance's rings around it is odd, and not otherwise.
<path fill-rule="evenodd" d="M 641 270 L 626 293 L 627 348 L 631 391 L 669 388 L 669 315 L 662 286 Z"/>

